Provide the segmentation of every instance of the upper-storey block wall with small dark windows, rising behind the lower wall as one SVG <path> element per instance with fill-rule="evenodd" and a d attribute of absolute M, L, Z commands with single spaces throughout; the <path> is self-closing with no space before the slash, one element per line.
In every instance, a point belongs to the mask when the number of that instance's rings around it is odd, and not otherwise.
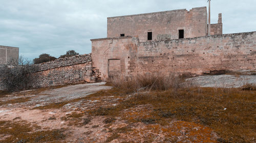
<path fill-rule="evenodd" d="M 108 17 L 108 38 L 125 36 L 139 37 L 147 41 L 147 32 L 153 40 L 178 39 L 179 30 L 184 38 L 205 36 L 207 33 L 206 7 Z"/>

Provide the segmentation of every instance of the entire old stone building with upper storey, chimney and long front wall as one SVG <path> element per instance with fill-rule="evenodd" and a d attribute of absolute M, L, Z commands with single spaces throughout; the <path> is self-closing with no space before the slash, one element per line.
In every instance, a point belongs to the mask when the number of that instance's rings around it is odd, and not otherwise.
<path fill-rule="evenodd" d="M 222 34 L 222 14 L 207 36 L 206 7 L 108 18 L 107 38 L 91 39 L 101 79 L 147 72 L 202 74 L 253 69 L 256 32 Z"/>

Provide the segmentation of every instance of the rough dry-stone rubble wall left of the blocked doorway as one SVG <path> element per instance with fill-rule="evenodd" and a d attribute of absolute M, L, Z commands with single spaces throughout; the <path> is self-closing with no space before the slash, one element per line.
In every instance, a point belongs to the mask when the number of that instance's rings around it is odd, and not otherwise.
<path fill-rule="evenodd" d="M 34 64 L 33 87 L 96 82 L 100 80 L 98 70 L 92 67 L 91 54 L 60 58 L 51 62 Z M 2 85 L 2 86 L 1 86 Z M 0 81 L 0 90 L 4 83 Z"/>

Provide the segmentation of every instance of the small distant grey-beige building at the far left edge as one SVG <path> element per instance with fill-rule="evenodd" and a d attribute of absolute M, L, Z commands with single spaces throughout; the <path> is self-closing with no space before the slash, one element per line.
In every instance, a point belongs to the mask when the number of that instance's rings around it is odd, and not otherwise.
<path fill-rule="evenodd" d="M 0 45 L 0 64 L 6 64 L 10 60 L 18 59 L 18 47 Z"/>

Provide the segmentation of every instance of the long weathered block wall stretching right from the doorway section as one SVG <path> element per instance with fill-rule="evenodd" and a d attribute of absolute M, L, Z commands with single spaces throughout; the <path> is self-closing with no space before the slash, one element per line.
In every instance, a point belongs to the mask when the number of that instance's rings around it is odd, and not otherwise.
<path fill-rule="evenodd" d="M 138 42 L 132 72 L 256 70 L 256 32 Z"/>

